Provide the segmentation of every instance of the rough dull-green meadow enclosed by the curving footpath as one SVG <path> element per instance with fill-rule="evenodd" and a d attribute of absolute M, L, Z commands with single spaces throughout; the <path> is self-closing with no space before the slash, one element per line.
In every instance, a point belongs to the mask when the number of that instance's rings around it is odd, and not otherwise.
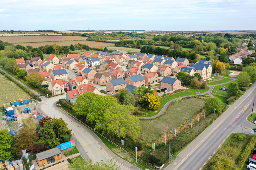
<path fill-rule="evenodd" d="M 154 142 L 164 133 L 177 128 L 192 116 L 196 115 L 199 109 L 203 108 L 204 100 L 191 98 L 181 100 L 171 106 L 164 116 L 155 120 L 140 120 L 141 134 L 138 136 L 149 142 Z"/>

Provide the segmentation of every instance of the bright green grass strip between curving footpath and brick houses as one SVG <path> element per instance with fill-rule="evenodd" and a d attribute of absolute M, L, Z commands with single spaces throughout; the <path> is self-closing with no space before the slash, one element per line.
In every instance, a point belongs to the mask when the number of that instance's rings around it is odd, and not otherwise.
<path fill-rule="evenodd" d="M 201 94 L 201 93 L 207 92 L 208 90 L 209 90 L 209 87 L 206 87 L 205 89 L 187 89 L 187 90 L 185 90 L 184 92 L 181 92 L 181 93 L 176 93 L 176 94 L 172 94 L 172 95 L 169 95 L 169 96 L 162 97 L 160 99 L 161 100 L 161 104 L 160 104 L 157 112 L 144 111 L 144 110 L 140 109 L 141 112 L 147 113 L 148 115 L 146 115 L 146 116 L 138 116 L 138 117 L 151 117 L 151 116 L 155 116 L 155 115 L 157 115 L 161 111 L 161 109 L 164 107 L 164 105 L 167 102 L 169 102 L 170 100 L 176 99 L 178 97 L 184 97 L 184 96 Z"/>

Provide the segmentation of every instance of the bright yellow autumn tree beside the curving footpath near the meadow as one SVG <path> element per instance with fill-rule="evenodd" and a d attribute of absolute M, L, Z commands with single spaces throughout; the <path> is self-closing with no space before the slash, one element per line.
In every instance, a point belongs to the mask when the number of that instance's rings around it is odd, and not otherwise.
<path fill-rule="evenodd" d="M 153 94 L 147 93 L 141 98 L 141 105 L 148 110 L 156 111 L 160 104 L 159 95 L 156 91 Z"/>

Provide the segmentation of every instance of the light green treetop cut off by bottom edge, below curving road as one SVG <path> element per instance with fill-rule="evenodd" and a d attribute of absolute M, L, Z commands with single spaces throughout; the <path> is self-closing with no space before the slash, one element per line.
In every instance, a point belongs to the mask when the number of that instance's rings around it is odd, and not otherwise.
<path fill-rule="evenodd" d="M 72 163 L 68 164 L 69 170 L 121 170 L 119 165 L 116 165 L 112 159 L 93 163 L 90 159 L 89 161 L 76 157 L 72 160 Z"/>

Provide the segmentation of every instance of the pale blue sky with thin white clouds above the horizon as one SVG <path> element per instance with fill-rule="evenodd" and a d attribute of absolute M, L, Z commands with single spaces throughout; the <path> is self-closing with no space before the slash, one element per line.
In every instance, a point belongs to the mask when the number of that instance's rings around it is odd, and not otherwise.
<path fill-rule="evenodd" d="M 255 0 L 0 0 L 0 30 L 255 30 Z"/>

